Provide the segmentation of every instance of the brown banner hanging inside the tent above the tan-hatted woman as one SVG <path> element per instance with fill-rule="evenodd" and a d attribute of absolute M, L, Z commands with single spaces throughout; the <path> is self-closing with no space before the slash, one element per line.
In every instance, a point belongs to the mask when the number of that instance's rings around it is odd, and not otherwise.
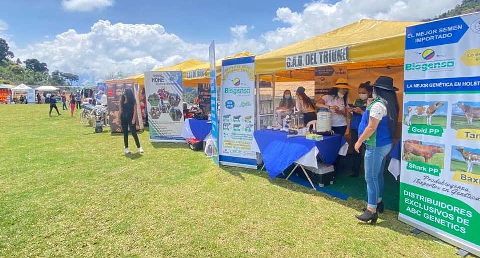
<path fill-rule="evenodd" d="M 346 66 L 315 67 L 315 102 L 330 92 L 339 78 L 347 78 Z"/>

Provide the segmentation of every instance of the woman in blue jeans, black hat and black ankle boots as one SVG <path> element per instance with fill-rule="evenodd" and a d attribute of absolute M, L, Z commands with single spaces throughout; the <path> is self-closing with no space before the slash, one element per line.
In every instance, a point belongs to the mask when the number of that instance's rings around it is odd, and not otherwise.
<path fill-rule="evenodd" d="M 380 76 L 373 86 L 374 100 L 368 105 L 358 127 L 360 137 L 355 143 L 359 152 L 363 143 L 365 150 L 365 181 L 367 182 L 368 205 L 364 213 L 355 215 L 361 221 L 375 224 L 378 212 L 382 213 L 385 181 L 383 171 L 388 153 L 392 149 L 398 121 L 398 100 L 393 78 Z"/>

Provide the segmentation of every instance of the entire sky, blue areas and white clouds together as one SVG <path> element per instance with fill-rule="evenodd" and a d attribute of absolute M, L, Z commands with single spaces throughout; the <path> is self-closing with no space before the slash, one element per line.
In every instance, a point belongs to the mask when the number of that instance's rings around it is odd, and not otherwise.
<path fill-rule="evenodd" d="M 3 0 L 0 38 L 15 58 L 78 74 L 81 85 L 189 58 L 262 54 L 363 18 L 417 21 L 461 0 Z"/>

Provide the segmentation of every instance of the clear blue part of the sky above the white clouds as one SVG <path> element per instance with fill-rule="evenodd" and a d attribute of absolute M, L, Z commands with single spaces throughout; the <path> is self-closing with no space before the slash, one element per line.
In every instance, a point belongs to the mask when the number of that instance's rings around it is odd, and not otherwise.
<path fill-rule="evenodd" d="M 209 42 L 212 39 L 228 40 L 230 35 L 224 32 L 240 24 L 254 26 L 251 36 L 257 37 L 261 32 L 281 25 L 280 21 L 273 20 L 278 7 L 302 11 L 305 4 L 304 1 L 289 0 L 122 0 L 116 1 L 112 7 L 72 12 L 65 11 L 60 2 L 7 0 L 2 3 L 0 17 L 9 24 L 9 31 L 14 32 L 13 38 L 19 47 L 43 41 L 45 36 L 53 38 L 68 29 L 87 33 L 99 19 L 112 23 L 158 23 L 166 27 L 167 32 L 187 41 Z"/>

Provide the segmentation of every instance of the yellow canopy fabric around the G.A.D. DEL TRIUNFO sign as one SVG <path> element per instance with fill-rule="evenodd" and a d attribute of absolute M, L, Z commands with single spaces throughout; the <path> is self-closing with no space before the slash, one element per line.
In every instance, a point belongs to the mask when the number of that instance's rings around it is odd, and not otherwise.
<path fill-rule="evenodd" d="M 406 26 L 419 22 L 362 19 L 322 35 L 255 58 L 255 74 L 313 80 L 313 67 L 287 70 L 286 58 L 301 53 L 348 46 L 350 69 L 403 65 Z M 318 66 L 318 65 L 316 65 Z"/>

